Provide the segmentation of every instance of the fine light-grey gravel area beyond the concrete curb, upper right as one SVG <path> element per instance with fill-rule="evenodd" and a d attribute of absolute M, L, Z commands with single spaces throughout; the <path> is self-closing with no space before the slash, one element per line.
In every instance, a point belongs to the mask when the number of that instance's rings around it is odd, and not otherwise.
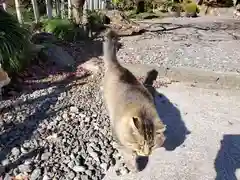
<path fill-rule="evenodd" d="M 118 52 L 120 61 L 240 73 L 240 24 L 232 21 L 194 24 L 194 21 L 169 20 L 170 24 L 164 25 L 159 21 L 149 27 L 158 32 L 122 37 L 123 47 Z M 179 25 L 188 27 L 177 28 Z M 163 27 L 176 29 L 163 31 Z"/>

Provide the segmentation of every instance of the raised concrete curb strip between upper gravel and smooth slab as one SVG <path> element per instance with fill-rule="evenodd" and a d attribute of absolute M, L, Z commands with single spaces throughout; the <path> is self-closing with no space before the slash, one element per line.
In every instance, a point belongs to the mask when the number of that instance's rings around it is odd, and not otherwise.
<path fill-rule="evenodd" d="M 214 72 L 191 67 L 156 67 L 144 64 L 122 64 L 136 76 L 145 76 L 148 71 L 155 69 L 159 77 L 172 81 L 200 84 L 212 88 L 240 89 L 240 74 L 235 72 Z"/>

